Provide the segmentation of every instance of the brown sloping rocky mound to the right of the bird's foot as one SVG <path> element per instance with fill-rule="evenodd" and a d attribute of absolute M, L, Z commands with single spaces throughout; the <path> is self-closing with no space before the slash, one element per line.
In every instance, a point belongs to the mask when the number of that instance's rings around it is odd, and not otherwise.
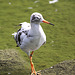
<path fill-rule="evenodd" d="M 75 75 L 75 60 L 63 61 L 40 72 L 42 75 Z"/>

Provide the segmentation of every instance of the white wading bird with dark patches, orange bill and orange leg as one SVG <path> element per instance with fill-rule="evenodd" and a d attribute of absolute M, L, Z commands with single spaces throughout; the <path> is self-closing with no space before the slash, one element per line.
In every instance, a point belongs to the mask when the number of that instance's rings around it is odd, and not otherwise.
<path fill-rule="evenodd" d="M 33 53 L 46 43 L 46 35 L 40 23 L 47 23 L 54 26 L 51 22 L 46 21 L 40 13 L 34 12 L 30 17 L 30 23 L 20 23 L 18 26 L 21 26 L 21 28 L 12 34 L 14 35 L 17 47 L 26 52 L 30 58 L 31 75 L 39 75 L 35 71 L 32 62 Z"/>

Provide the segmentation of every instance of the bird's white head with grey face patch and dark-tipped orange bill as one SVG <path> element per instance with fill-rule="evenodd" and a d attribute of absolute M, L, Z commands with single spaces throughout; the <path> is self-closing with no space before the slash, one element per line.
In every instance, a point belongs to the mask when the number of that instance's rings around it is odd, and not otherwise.
<path fill-rule="evenodd" d="M 31 23 L 35 23 L 35 24 L 38 24 L 38 23 L 47 23 L 47 24 L 50 24 L 50 25 L 54 25 L 46 20 L 44 20 L 43 16 L 40 14 L 40 13 L 33 13 L 30 17 L 30 22 Z"/>

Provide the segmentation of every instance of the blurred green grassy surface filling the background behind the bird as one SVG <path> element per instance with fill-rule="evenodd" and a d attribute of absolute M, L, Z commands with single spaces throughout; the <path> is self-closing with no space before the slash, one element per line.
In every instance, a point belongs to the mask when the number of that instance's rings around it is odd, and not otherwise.
<path fill-rule="evenodd" d="M 11 34 L 19 28 L 16 25 L 24 21 L 30 22 L 30 15 L 39 12 L 55 26 L 41 24 L 47 42 L 34 52 L 33 62 L 36 70 L 49 68 L 64 60 L 75 59 L 75 0 L 59 0 L 54 4 L 49 4 L 49 0 L 39 0 L 38 3 L 34 1 L 0 0 L 0 49 L 19 50 L 25 58 L 26 54 L 15 47 L 16 43 Z M 25 59 L 29 63 L 28 57 Z"/>

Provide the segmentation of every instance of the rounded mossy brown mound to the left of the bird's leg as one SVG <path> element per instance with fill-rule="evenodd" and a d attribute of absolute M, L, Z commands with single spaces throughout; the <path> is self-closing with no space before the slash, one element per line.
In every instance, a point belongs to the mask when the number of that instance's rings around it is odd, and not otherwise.
<path fill-rule="evenodd" d="M 24 57 L 25 58 L 25 57 Z M 1 75 L 29 75 L 30 64 L 15 49 L 0 50 L 0 74 Z M 24 74 L 23 74 L 24 75 Z"/>

